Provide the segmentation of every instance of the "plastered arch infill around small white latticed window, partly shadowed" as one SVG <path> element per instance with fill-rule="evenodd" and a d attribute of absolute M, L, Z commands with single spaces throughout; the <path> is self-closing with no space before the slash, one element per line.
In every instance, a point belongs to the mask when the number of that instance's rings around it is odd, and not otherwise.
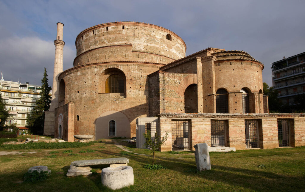
<path fill-rule="evenodd" d="M 115 122 L 115 135 L 109 134 L 111 124 Z M 110 125 L 110 127 L 109 127 Z M 126 115 L 119 111 L 106 111 L 95 120 L 95 139 L 130 137 L 130 122 Z"/>

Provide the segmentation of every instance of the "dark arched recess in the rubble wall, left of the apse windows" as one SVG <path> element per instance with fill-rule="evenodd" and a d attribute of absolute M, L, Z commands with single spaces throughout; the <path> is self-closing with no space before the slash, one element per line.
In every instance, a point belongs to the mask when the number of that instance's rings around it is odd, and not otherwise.
<path fill-rule="evenodd" d="M 198 113 L 197 84 L 191 84 L 185 89 L 184 112 Z"/>

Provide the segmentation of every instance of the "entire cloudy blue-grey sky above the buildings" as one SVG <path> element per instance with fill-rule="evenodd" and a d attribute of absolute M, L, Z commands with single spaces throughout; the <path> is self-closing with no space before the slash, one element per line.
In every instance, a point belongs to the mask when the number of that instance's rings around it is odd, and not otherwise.
<path fill-rule="evenodd" d="M 0 70 L 8 81 L 52 85 L 56 23 L 64 23 L 64 70 L 73 67 L 75 38 L 84 29 L 115 21 L 152 23 L 178 34 L 186 55 L 207 47 L 244 50 L 264 63 L 305 51 L 305 1 L 0 0 Z"/>

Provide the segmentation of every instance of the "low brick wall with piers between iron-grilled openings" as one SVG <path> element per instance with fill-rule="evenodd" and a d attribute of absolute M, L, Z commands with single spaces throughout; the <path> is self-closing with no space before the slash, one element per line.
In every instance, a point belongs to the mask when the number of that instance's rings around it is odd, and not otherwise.
<path fill-rule="evenodd" d="M 304 146 L 305 145 L 305 115 L 301 114 L 212 114 L 212 113 L 162 113 L 159 116 L 160 130 L 168 131 L 170 136 L 172 134 L 173 123 L 172 120 L 189 120 L 191 122 L 190 139 L 192 145 L 197 143 L 207 143 L 211 146 L 211 119 L 227 120 L 228 130 L 226 131 L 227 145 L 235 147 L 236 149 L 246 149 L 245 144 L 245 120 L 257 120 L 258 122 L 258 137 L 260 148 L 276 148 L 278 144 L 278 119 L 289 119 L 290 123 L 290 145 Z M 171 137 L 170 137 L 171 138 Z M 171 150 L 171 142 L 167 141 L 161 147 L 163 151 Z M 192 150 L 194 148 L 192 147 Z"/>

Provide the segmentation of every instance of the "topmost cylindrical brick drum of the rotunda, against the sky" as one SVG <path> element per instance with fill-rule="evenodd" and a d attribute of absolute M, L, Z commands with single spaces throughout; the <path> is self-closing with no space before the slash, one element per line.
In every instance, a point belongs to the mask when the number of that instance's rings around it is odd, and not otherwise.
<path fill-rule="evenodd" d="M 166 39 L 167 34 L 170 34 L 171 40 Z M 95 54 L 86 57 L 82 56 L 84 60 L 95 59 L 97 56 L 100 57 L 99 61 L 101 61 L 104 59 L 104 54 L 118 54 L 117 57 L 124 57 L 124 50 L 122 52 L 116 47 L 116 50 L 113 51 L 113 47 L 109 47 L 118 45 L 132 45 L 132 52 L 147 52 L 157 57 L 159 55 L 161 58 L 167 58 L 167 61 L 185 57 L 186 50 L 184 41 L 170 30 L 145 23 L 118 22 L 94 26 L 81 32 L 76 39 L 77 56 L 95 49 L 98 53 L 95 52 Z M 104 48 L 99 49 L 101 47 Z M 129 57 L 136 58 L 130 51 L 125 53 L 130 54 Z M 91 53 L 87 52 L 86 54 Z M 113 55 L 108 58 L 113 58 Z M 77 66 L 77 63 L 80 62 L 74 62 L 74 66 Z"/>

